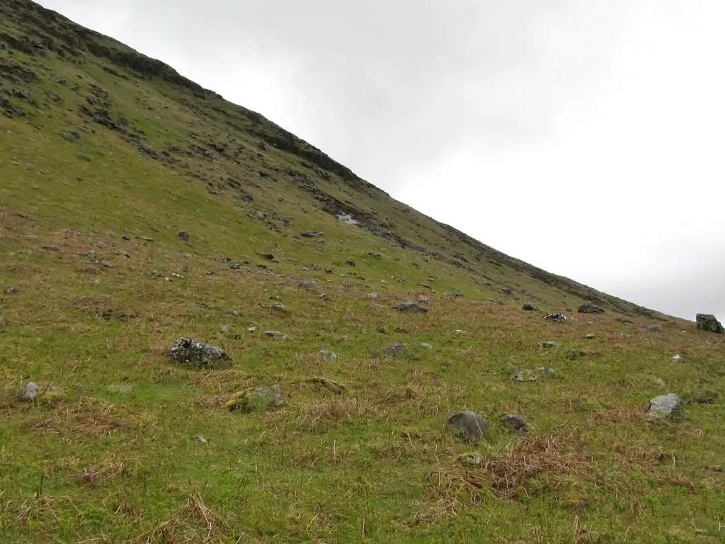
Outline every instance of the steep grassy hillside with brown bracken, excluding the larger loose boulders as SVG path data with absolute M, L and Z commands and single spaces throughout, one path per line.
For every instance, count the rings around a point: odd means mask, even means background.
M 723 540 L 720 335 L 436 223 L 29 1 L 0 4 L 0 87 L 0 541 Z M 178 337 L 231 362 L 175 363 Z M 273 384 L 281 408 L 225 408 Z M 648 423 L 668 392 L 684 419 Z M 460 410 L 477 445 L 444 430 Z

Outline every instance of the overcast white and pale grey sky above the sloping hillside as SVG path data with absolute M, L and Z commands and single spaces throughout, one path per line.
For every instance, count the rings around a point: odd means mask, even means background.
M 725 320 L 722 0 L 41 0 L 498 250 Z

